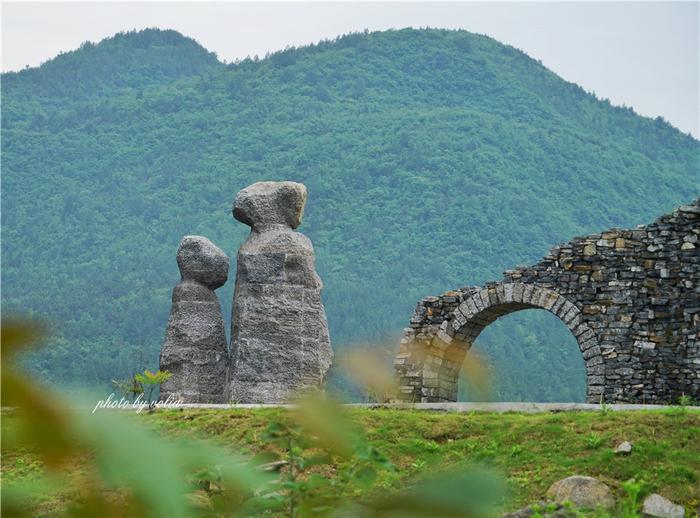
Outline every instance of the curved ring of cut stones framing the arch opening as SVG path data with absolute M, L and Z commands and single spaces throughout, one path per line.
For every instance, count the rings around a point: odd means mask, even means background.
M 559 317 L 566 325 L 576 338 L 586 365 L 586 399 L 589 402 L 597 402 L 600 399 L 604 383 L 604 360 L 595 333 L 584 321 L 581 311 L 554 290 L 514 282 L 498 283 L 476 291 L 459 304 L 450 314 L 450 318 L 440 325 L 431 349 L 444 351 L 437 377 L 438 386 L 442 382 L 442 386 L 452 389 L 449 400 L 457 400 L 459 371 L 479 334 L 499 317 L 525 309 L 545 309 Z M 426 362 L 429 373 L 431 364 L 434 365 L 435 362 Z

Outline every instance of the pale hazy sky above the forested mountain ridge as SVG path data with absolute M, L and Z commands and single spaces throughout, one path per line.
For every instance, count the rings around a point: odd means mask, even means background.
M 568 81 L 700 135 L 700 3 L 2 3 L 2 70 L 145 27 L 175 29 L 228 61 L 364 29 L 463 28 Z

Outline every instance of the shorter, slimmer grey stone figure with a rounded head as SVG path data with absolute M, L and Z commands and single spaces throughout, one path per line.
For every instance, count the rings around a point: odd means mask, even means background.
M 178 395 L 184 403 L 225 403 L 228 345 L 221 306 L 214 290 L 228 278 L 228 256 L 206 237 L 185 236 L 177 251 L 182 281 L 173 303 L 160 369 L 172 373 L 161 399 Z

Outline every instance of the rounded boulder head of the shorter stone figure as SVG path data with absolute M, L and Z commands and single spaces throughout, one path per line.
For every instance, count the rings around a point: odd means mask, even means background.
M 196 281 L 215 290 L 228 279 L 228 256 L 202 236 L 185 236 L 177 249 L 183 281 Z

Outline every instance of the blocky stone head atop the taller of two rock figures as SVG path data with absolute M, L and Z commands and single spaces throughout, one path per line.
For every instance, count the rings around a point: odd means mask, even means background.
M 306 186 L 296 182 L 257 182 L 238 192 L 233 217 L 256 230 L 268 225 L 297 228 L 306 204 Z

